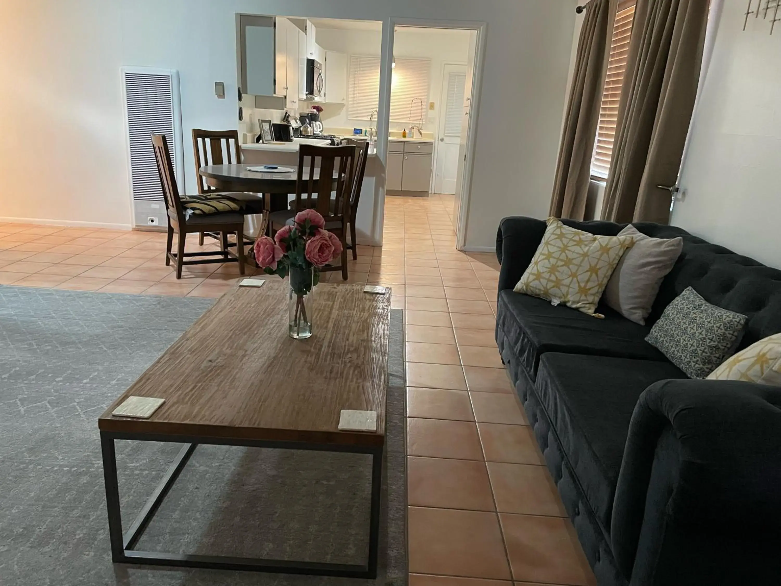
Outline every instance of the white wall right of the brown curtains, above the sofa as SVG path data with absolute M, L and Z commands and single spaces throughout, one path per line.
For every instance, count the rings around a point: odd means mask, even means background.
M 781 268 L 781 29 L 726 0 L 671 223 Z

